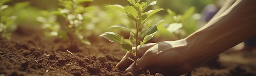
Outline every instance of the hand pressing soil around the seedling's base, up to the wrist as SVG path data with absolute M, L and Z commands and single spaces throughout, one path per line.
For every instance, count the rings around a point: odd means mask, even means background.
M 134 56 L 127 52 L 116 67 L 127 68 L 127 72 L 150 70 L 150 72 L 180 75 L 193 69 L 190 63 L 186 62 L 188 59 L 186 51 L 184 40 L 144 44 L 137 52 L 137 58 L 140 59 L 136 61 L 136 64 L 128 59 L 128 57 L 133 59 Z

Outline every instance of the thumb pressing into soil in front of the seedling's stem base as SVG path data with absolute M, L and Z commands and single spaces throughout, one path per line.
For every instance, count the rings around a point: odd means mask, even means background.
M 136 63 L 132 63 L 125 71 L 126 72 L 139 72 L 148 67 L 149 63 L 144 57 L 141 57 Z

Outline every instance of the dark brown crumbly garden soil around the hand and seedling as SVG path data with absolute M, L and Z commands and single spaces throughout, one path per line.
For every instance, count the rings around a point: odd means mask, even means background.
M 12 39 L 0 40 L 0 76 L 161 76 L 115 68 L 126 51 L 97 35 L 92 45 L 46 38 L 43 29 L 20 25 Z M 154 38 L 150 42 L 162 41 Z M 68 53 L 69 50 L 74 54 Z M 172 76 L 172 75 L 165 75 Z M 233 51 L 214 57 L 182 76 L 256 76 L 256 51 Z

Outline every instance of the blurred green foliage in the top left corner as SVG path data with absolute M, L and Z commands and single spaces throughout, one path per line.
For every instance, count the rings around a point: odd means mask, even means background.
M 38 17 L 42 10 L 38 10 L 29 6 L 29 2 L 17 2 L 16 4 L 9 5 L 8 2 L 12 0 L 0 1 L 0 14 L 1 14 L 1 38 L 10 39 L 11 32 L 16 30 L 18 25 L 22 23 L 33 24 L 38 23 Z

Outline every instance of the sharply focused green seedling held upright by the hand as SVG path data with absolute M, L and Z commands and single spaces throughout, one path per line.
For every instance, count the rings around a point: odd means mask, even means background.
M 136 31 L 133 31 L 132 28 L 126 27 L 126 25 L 117 24 L 111 27 L 119 27 L 119 28 L 124 28 L 126 30 L 129 30 L 130 31 L 129 39 L 122 39 L 119 34 L 116 34 L 114 32 L 105 32 L 100 36 L 106 38 L 110 42 L 120 43 L 123 50 L 129 51 L 133 54 L 134 58 L 132 59 L 128 57 L 128 59 L 136 63 L 136 61 L 139 59 L 137 58 L 138 50 L 143 44 L 145 44 L 148 40 L 153 38 L 153 34 L 157 32 L 156 25 L 163 20 L 154 23 L 154 25 L 145 25 L 145 22 L 151 15 L 157 13 L 158 11 L 163 10 L 163 8 L 158 8 L 155 10 L 144 12 L 148 6 L 156 4 L 157 0 L 146 0 L 146 2 L 140 2 L 141 0 L 127 0 L 127 1 L 130 2 L 132 6 L 127 5 L 123 7 L 119 4 L 114 4 L 114 5 L 109 5 L 107 7 L 116 8 L 126 13 L 128 18 L 132 22 L 134 22 Z M 143 40 L 141 38 L 143 38 Z M 132 47 L 134 46 L 133 44 L 135 44 L 135 51 L 132 50 Z

